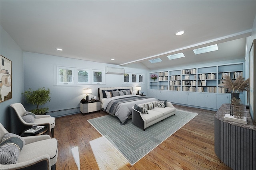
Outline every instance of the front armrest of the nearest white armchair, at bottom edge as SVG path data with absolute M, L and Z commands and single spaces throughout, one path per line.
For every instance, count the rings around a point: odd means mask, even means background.
M 16 164 L 10 164 L 10 165 L 0 165 L 1 170 L 50 170 L 50 156 L 45 154 L 42 156 L 39 156 L 37 158 L 34 158 L 32 160 L 28 160 L 26 162 L 19 162 Z

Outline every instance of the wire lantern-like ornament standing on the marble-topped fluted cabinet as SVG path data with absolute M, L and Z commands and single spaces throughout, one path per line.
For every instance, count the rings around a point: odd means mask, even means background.
M 241 103 L 241 99 L 233 97 L 230 104 L 230 115 L 237 119 L 243 119 L 244 106 Z

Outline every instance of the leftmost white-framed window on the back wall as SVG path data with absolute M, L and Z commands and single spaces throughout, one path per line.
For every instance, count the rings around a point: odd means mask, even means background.
M 57 84 L 74 84 L 74 68 L 57 66 Z

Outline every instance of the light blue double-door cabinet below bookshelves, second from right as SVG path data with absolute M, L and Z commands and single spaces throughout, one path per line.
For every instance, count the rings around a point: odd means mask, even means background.
M 206 107 L 211 109 L 216 109 L 217 105 L 217 95 L 216 94 L 204 94 L 197 93 L 196 94 L 196 106 Z

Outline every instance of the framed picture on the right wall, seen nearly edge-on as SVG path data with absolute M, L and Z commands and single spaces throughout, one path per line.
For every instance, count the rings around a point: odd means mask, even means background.
M 250 115 L 253 119 L 253 124 L 256 125 L 256 102 L 254 101 L 254 98 L 256 97 L 256 74 L 254 72 L 256 71 L 256 39 L 252 42 L 252 47 L 250 49 Z

